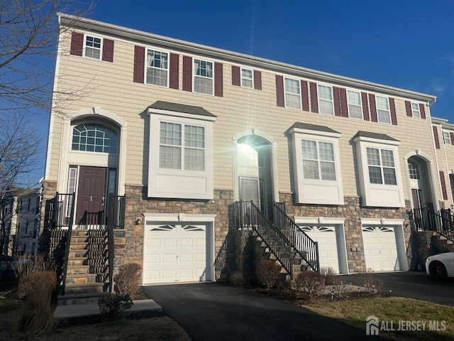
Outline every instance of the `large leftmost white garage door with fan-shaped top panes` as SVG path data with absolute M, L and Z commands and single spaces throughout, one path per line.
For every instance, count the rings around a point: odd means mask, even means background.
M 206 281 L 206 224 L 146 224 L 143 283 Z

